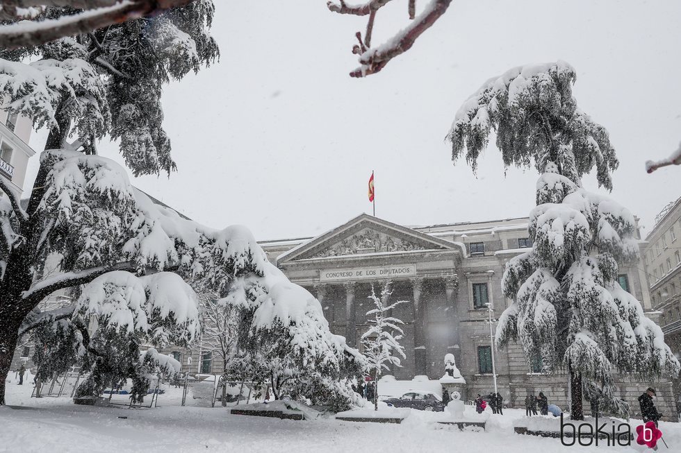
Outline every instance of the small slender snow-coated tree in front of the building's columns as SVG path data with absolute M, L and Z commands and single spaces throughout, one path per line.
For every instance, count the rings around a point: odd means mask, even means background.
M 389 370 L 389 365 L 402 366 L 400 357 L 406 359 L 404 346 L 400 345 L 400 340 L 404 336 L 402 327 L 404 324 L 393 316 L 391 310 L 397 305 L 408 302 L 407 300 L 397 300 L 391 303 L 391 282 L 386 282 L 381 289 L 381 295 L 376 296 L 373 284 L 371 285 L 371 295 L 369 298 L 376 308 L 366 312 L 369 328 L 362 334 L 362 345 L 364 355 L 368 361 L 368 371 L 374 378 L 374 410 L 378 410 L 378 380 L 383 370 Z

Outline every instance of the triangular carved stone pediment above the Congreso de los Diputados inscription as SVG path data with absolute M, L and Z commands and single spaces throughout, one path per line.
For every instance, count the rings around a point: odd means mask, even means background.
M 277 262 L 343 257 L 368 253 L 452 250 L 457 245 L 368 214 L 361 214 L 333 230 L 281 255 Z

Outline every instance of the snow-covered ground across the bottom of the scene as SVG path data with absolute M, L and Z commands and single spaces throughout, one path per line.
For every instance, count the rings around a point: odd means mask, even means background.
M 8 385 L 0 407 L 1 452 L 498 452 L 597 451 L 564 447 L 552 438 L 514 434 L 524 411 L 491 416 L 486 432 L 436 425 L 443 413 L 411 411 L 402 425 L 344 422 L 332 418 L 296 422 L 232 416 L 222 407 L 76 406 L 69 398 L 31 399 L 31 386 Z M 386 408 L 381 408 L 386 410 Z M 127 418 L 119 418 L 127 417 Z M 633 420 L 632 420 L 633 422 Z M 633 423 L 632 423 L 633 424 Z M 670 447 L 681 447 L 681 424 L 662 422 Z M 659 445 L 666 451 L 664 445 Z M 598 447 L 598 451 L 643 452 L 643 447 Z

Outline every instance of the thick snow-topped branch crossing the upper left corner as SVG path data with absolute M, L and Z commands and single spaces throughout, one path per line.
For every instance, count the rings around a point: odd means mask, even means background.
M 3 6 L 0 12 L 13 19 L 25 19 L 26 16 L 31 16 L 29 12 L 47 6 L 71 6 L 83 8 L 83 12 L 58 19 L 22 20 L 15 24 L 0 26 L 0 49 L 40 46 L 61 37 L 89 33 L 97 28 L 156 15 L 192 1 L 198 0 L 7 1 L 5 3 L 9 5 Z M 33 9 L 26 11 L 26 8 Z

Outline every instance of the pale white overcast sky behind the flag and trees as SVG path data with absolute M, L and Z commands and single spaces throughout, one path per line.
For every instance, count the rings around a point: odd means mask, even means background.
M 389 221 L 527 216 L 535 171 L 504 176 L 492 144 L 476 178 L 466 162 L 452 165 L 444 138 L 486 79 L 561 59 L 577 69 L 582 110 L 609 130 L 621 161 L 611 196 L 641 217 L 643 235 L 681 195 L 680 167 L 643 167 L 681 139 L 680 1 L 454 0 L 411 51 L 359 80 L 347 73 L 366 19 L 325 3 L 215 0 L 220 63 L 163 95 L 178 171 L 133 184 L 211 227 L 247 225 L 257 239 L 315 235 L 370 213 L 372 170 L 376 214 Z M 407 24 L 406 3 L 381 9 L 375 45 Z M 44 139 L 31 144 L 40 151 Z M 100 151 L 121 161 L 116 144 Z

